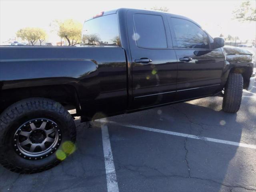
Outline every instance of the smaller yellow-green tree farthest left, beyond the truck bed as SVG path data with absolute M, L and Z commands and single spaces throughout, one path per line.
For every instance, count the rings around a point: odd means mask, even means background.
M 29 44 L 34 46 L 37 40 L 41 38 L 39 33 L 40 30 L 42 29 L 26 27 L 18 30 L 16 36 L 22 38 L 22 40 L 27 40 Z

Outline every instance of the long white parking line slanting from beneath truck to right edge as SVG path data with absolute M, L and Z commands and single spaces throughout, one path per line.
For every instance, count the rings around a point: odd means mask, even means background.
M 214 139 L 214 138 L 209 138 L 209 137 L 201 137 L 201 136 L 196 136 L 196 135 L 190 135 L 190 134 L 161 130 L 161 129 L 154 129 L 154 128 L 137 126 L 137 125 L 120 124 L 120 123 L 111 122 L 111 121 L 110 121 L 110 123 L 115 123 L 120 126 L 126 126 L 126 127 L 146 130 L 146 131 L 152 131 L 152 132 L 164 133 L 164 134 L 175 135 L 175 136 L 180 136 L 180 137 L 187 137 L 187 138 L 191 138 L 191 139 L 204 140 L 204 141 L 210 141 L 210 142 L 216 142 L 216 143 L 222 143 L 222 144 L 256 149 L 256 145 L 251 145 L 251 144 L 245 144 L 245 143 L 239 143 L 239 142 L 227 141 L 227 140 L 221 140 L 221 139 Z

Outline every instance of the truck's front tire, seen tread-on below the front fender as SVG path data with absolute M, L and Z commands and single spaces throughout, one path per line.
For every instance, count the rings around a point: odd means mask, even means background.
M 228 76 L 224 88 L 224 97 L 222 110 L 228 113 L 236 113 L 240 108 L 243 94 L 243 76 L 242 74 L 231 73 Z

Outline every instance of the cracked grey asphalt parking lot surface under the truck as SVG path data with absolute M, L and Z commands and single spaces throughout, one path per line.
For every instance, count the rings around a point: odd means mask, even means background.
M 0 192 L 256 191 L 256 83 L 237 114 L 222 98 L 75 120 L 76 152 L 51 170 L 16 174 L 0 166 Z

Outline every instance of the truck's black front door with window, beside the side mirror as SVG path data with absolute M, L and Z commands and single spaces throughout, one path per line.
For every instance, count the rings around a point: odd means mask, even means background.
M 210 49 L 212 38 L 197 24 L 168 16 L 178 59 L 177 100 L 217 93 L 225 65 L 222 48 Z

